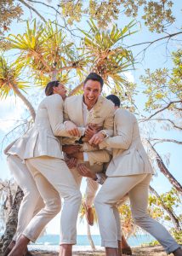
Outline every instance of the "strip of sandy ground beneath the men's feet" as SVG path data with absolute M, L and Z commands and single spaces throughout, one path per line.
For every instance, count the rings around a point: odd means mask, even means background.
M 58 253 L 48 253 L 48 252 L 31 252 L 34 256 L 58 256 Z M 104 256 L 105 253 L 104 251 L 96 251 L 96 252 L 91 252 L 91 251 L 86 251 L 86 252 L 74 252 L 73 256 L 89 256 L 89 255 L 94 255 L 94 256 Z M 155 247 L 134 247 L 133 248 L 133 255 L 134 256 L 166 256 L 167 254 L 164 253 L 163 249 L 161 246 L 155 246 Z M 173 255 L 173 254 L 171 254 Z M 123 254 L 124 256 L 124 254 Z

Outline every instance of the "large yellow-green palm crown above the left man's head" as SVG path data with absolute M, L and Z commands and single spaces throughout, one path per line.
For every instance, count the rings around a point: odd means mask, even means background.
M 81 75 L 82 67 L 86 65 L 85 59 L 77 54 L 77 48 L 72 42 L 67 42 L 64 32 L 47 22 L 37 27 L 34 20 L 33 27 L 26 22 L 26 32 L 23 35 L 10 34 L 8 37 L 11 49 L 19 49 L 18 60 L 24 67 L 31 69 L 34 79 L 41 80 L 45 76 L 56 79 L 58 73 L 77 70 Z

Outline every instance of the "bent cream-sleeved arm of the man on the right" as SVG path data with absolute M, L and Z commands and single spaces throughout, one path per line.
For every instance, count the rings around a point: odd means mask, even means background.
M 108 137 L 100 143 L 100 149 L 103 148 L 122 148 L 128 149 L 132 142 L 134 128 L 134 116 L 128 111 L 119 110 L 115 115 L 115 125 L 117 136 Z

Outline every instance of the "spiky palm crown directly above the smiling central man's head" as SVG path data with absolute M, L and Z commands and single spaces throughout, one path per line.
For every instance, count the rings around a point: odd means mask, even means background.
M 135 22 L 132 21 L 123 29 L 113 25 L 111 31 L 102 31 L 94 24 L 93 20 L 88 21 L 89 32 L 81 30 L 82 55 L 87 56 L 89 72 L 99 73 L 105 84 L 110 86 L 111 79 L 115 86 L 124 91 L 124 84 L 127 80 L 124 72 L 134 69 L 134 56 L 131 50 L 126 49 L 122 42 L 124 38 L 134 34 L 131 32 Z M 77 85 L 74 93 L 82 88 L 82 84 Z

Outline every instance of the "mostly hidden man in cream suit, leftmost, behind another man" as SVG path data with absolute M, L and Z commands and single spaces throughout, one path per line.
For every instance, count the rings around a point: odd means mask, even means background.
M 20 203 L 16 232 L 3 256 L 7 256 L 10 253 L 15 242 L 31 221 L 31 218 L 44 207 L 43 199 L 40 196 L 37 185 L 23 161 L 26 142 L 30 132 L 31 131 L 27 131 L 23 137 L 10 143 L 9 146 L 4 149 L 4 154 L 8 155 L 7 163 L 9 170 L 14 177 L 14 181 L 20 186 L 20 189 L 23 190 L 24 197 Z M 28 253 L 26 254 L 29 255 Z

